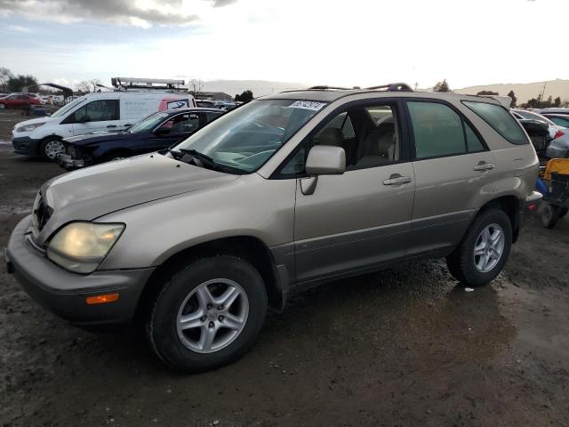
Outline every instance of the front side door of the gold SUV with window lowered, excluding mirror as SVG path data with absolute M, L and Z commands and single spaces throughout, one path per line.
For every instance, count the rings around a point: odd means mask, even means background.
M 364 271 L 405 256 L 413 210 L 413 165 L 404 155 L 397 102 L 358 104 L 331 117 L 293 158 L 314 145 L 346 151 L 347 170 L 323 175 L 313 194 L 297 183 L 294 251 L 297 283 Z M 305 157 L 305 156 L 304 156 Z

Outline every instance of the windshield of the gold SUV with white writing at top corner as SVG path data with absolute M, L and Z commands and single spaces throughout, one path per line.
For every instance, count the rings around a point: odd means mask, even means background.
M 253 172 L 325 105 L 319 101 L 251 101 L 206 125 L 174 150 L 193 149 L 220 165 Z

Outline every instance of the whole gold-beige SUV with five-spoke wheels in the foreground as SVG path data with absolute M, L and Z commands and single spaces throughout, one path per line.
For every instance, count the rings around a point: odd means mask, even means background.
M 465 286 L 506 263 L 538 159 L 498 101 L 396 84 L 251 101 L 172 149 L 44 184 L 6 258 L 84 327 L 140 319 L 186 372 L 251 347 L 309 286 L 445 257 Z

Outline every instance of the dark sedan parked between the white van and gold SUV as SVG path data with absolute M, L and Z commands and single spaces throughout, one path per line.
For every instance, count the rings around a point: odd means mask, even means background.
M 223 109 L 169 109 L 154 113 L 124 131 L 72 136 L 63 140 L 67 155 L 58 156 L 56 161 L 72 170 L 167 149 L 225 112 Z

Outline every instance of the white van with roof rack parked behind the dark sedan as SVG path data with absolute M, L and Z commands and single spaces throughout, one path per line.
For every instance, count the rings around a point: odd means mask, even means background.
M 63 138 L 82 133 L 125 129 L 156 111 L 196 107 L 188 93 L 101 92 L 77 98 L 50 117 L 38 117 L 15 125 L 14 152 L 55 158 L 65 152 Z

